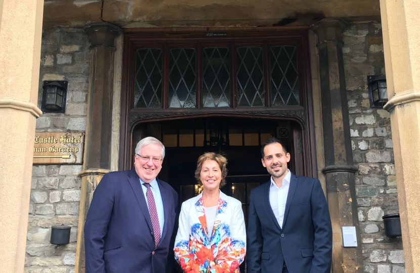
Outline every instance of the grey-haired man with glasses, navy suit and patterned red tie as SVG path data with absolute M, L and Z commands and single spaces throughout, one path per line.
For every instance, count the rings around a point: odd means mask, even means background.
M 175 264 L 178 194 L 156 178 L 165 148 L 136 147 L 134 170 L 104 175 L 85 222 L 86 273 L 163 273 Z

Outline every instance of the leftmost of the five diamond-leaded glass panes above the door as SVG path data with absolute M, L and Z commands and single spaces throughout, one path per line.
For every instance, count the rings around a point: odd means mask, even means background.
M 134 107 L 162 107 L 162 50 L 138 49 L 136 51 L 136 83 Z

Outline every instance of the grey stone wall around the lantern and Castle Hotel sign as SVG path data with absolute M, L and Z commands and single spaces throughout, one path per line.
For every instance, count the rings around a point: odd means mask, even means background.
M 88 36 L 82 29 L 43 32 L 38 107 L 44 80 L 68 80 L 66 112 L 43 114 L 36 131 L 85 131 L 90 69 Z M 29 207 L 25 272 L 74 272 L 81 165 L 34 165 Z M 51 226 L 72 226 L 70 244 L 50 244 Z

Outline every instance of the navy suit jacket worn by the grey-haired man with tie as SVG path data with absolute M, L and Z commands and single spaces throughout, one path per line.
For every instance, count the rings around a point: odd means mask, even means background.
M 85 222 L 86 273 L 163 273 L 175 264 L 178 194 L 157 179 L 164 225 L 155 248 L 152 222 L 135 170 L 110 172 L 95 189 Z

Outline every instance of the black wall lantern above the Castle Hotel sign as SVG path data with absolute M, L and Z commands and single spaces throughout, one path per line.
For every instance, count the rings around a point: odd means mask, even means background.
M 44 113 L 64 113 L 66 111 L 66 80 L 45 80 L 41 110 Z

